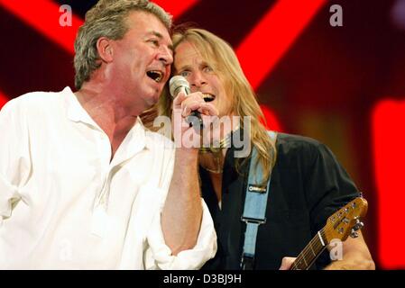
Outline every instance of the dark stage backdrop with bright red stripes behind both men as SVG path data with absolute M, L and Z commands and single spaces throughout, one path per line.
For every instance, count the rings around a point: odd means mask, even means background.
M 405 268 L 395 241 L 405 202 L 405 30 L 391 17 L 400 1 L 335 1 L 342 27 L 330 25 L 326 0 L 155 1 L 235 48 L 272 129 L 332 148 L 369 202 L 364 235 L 385 269 Z M 95 2 L 0 0 L 0 106 L 73 87 L 73 40 Z M 73 8 L 71 27 L 60 26 L 61 4 Z

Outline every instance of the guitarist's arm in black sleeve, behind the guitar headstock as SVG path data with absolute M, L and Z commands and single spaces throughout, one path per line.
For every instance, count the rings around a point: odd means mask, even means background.
M 305 161 L 311 163 L 308 169 L 308 182 L 306 191 L 311 208 L 311 226 L 312 231 L 321 229 L 327 218 L 345 203 L 358 196 L 358 190 L 353 181 L 345 172 L 345 169 L 338 163 L 336 157 L 325 145 L 311 145 L 309 151 L 312 151 L 314 160 Z M 308 153 L 310 154 L 310 153 Z M 358 238 L 347 238 L 341 242 L 340 247 L 327 247 L 332 254 L 337 251 L 341 260 L 332 261 L 332 263 L 321 263 L 325 269 L 373 269 L 374 263 L 370 251 L 364 242 L 362 234 L 359 232 Z M 295 258 L 284 257 L 282 259 L 281 269 L 290 269 Z

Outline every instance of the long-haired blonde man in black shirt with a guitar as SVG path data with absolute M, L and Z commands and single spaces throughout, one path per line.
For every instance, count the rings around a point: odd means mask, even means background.
M 247 267 L 241 266 L 246 233 L 246 223 L 241 217 L 252 154 L 237 157 L 241 148 L 233 141 L 235 134 L 243 134 L 244 142 L 257 151 L 263 182 L 270 180 L 265 221 L 259 225 L 249 267 L 289 269 L 293 257 L 325 226 L 327 218 L 359 196 L 357 188 L 325 145 L 283 133 L 273 139 L 269 137 L 260 122 L 262 112 L 253 89 L 235 52 L 224 40 L 208 31 L 191 28 L 174 33 L 172 40 L 172 72 L 189 81 L 191 92 L 201 92 L 206 101 L 216 106 L 220 117 L 250 116 L 249 125 L 245 120 L 232 120 L 227 127 L 219 126 L 219 147 L 200 149 L 202 193 L 218 237 L 216 257 L 203 268 Z M 185 110 L 192 103 L 187 105 L 183 107 Z M 161 113 L 169 114 L 168 107 L 170 97 L 161 97 Z M 331 261 L 324 252 L 312 268 L 374 268 L 361 233 L 359 238 L 347 238 L 341 247 L 342 260 Z

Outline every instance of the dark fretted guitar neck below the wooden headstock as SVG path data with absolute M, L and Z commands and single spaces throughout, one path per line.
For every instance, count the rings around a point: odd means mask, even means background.
M 290 270 L 308 270 L 327 247 L 327 244 L 325 230 L 320 229 L 317 235 L 315 235 L 302 252 L 299 253 L 299 256 L 295 259 Z

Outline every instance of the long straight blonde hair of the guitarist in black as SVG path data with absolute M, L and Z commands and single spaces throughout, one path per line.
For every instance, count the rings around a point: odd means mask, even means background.
M 272 166 L 276 160 L 276 149 L 271 141 L 267 130 L 262 125 L 265 121 L 257 103 L 256 95 L 252 86 L 244 76 L 244 71 L 239 64 L 234 49 L 225 40 L 217 37 L 213 33 L 197 28 L 189 28 L 182 31 L 175 31 L 172 35 L 173 47 L 179 43 L 188 41 L 193 44 L 202 57 L 214 68 L 217 76 L 223 80 L 226 93 L 234 96 L 234 112 L 241 117 L 241 128 L 244 129 L 244 116 L 251 117 L 251 144 L 257 149 L 258 160 L 262 164 L 264 182 L 268 181 L 272 171 Z M 176 57 L 176 55 L 174 56 Z M 172 69 L 173 72 L 175 72 Z M 158 113 L 170 116 L 171 97 L 164 89 L 158 103 Z M 252 147 L 253 147 L 252 146 Z M 247 160 L 248 158 L 244 158 Z M 236 162 L 236 170 L 240 171 L 241 162 Z

